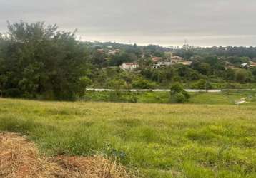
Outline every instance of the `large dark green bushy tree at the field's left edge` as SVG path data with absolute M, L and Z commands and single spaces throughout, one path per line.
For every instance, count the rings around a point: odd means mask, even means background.
M 27 98 L 72 100 L 87 68 L 87 54 L 74 33 L 44 23 L 8 23 L 0 38 L 1 91 Z M 17 94 L 16 94 L 17 95 Z

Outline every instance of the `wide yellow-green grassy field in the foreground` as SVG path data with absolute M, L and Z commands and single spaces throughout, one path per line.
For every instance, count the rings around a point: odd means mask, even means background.
M 142 177 L 256 177 L 255 102 L 205 95 L 183 105 L 0 99 L 0 130 L 46 155 L 116 157 Z

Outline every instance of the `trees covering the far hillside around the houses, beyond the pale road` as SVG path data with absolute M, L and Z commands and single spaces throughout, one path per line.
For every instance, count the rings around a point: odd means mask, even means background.
M 242 56 L 241 53 L 241 57 L 222 56 L 213 50 L 211 53 L 208 52 L 209 48 L 193 46 L 167 49 L 154 45 L 122 46 L 119 44 L 122 51 L 105 58 L 106 53 L 101 53 L 97 49 L 106 49 L 107 51 L 109 45 L 115 46 L 117 43 L 97 43 L 97 46 L 90 48 L 92 63 L 99 68 L 92 73 L 93 87 L 95 88 L 115 88 L 117 85 L 113 83 L 119 83 L 119 88 L 169 88 L 175 82 L 182 83 L 185 88 L 252 88 L 256 82 L 256 68 L 241 66 L 242 63 L 250 64 L 255 60 L 255 58 L 248 57 L 248 54 Z M 212 49 L 214 48 L 212 47 Z M 222 49 L 222 47 L 216 48 Z M 235 47 L 227 48 L 236 49 Z M 192 64 L 190 66 L 176 64 L 152 68 L 154 65 L 152 56 L 161 57 L 161 61 L 168 61 L 171 53 L 191 61 Z M 139 68 L 133 71 L 123 71 L 119 65 L 125 62 L 136 62 L 139 64 Z M 100 80 L 100 78 L 104 78 L 104 80 Z

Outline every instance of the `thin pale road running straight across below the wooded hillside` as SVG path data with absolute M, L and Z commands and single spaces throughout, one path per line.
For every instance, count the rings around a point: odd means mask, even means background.
M 222 91 L 255 91 L 255 89 L 222 89 L 222 90 L 197 90 L 197 89 L 185 89 L 187 92 L 197 93 L 197 92 L 209 92 L 209 93 L 220 93 Z M 114 91 L 113 89 L 104 89 L 104 88 L 87 88 L 87 91 Z M 129 92 L 169 92 L 169 89 L 130 89 L 130 90 L 120 90 L 120 91 L 129 91 Z

